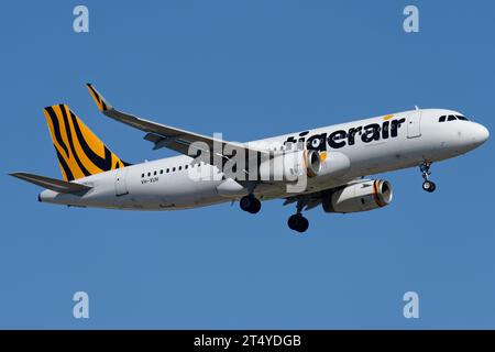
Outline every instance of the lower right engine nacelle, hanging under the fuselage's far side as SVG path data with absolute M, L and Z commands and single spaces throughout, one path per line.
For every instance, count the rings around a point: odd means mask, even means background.
M 387 206 L 392 201 L 392 185 L 387 180 L 369 179 L 344 186 L 323 196 L 326 212 L 358 212 Z

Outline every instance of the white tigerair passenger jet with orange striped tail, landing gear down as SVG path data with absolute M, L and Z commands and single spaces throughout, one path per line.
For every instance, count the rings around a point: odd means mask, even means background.
M 284 199 L 284 206 L 296 206 L 287 224 L 300 233 L 309 227 L 302 211 L 318 206 L 328 213 L 351 213 L 389 205 L 391 183 L 365 178 L 367 175 L 419 167 L 422 189 L 435 191 L 437 186 L 430 179 L 432 163 L 465 154 L 490 136 L 485 127 L 460 112 L 416 107 L 410 111 L 238 143 L 121 112 L 91 84 L 87 88 L 106 117 L 145 132 L 144 139 L 153 143 L 154 150 L 166 147 L 182 155 L 127 163 L 67 105 L 46 107 L 44 116 L 63 179 L 30 173 L 10 174 L 46 188 L 38 195 L 41 202 L 177 210 L 239 201 L 242 210 L 254 215 L 260 211 L 261 201 Z M 232 167 L 226 169 L 229 164 Z M 299 184 L 302 187 L 297 187 Z

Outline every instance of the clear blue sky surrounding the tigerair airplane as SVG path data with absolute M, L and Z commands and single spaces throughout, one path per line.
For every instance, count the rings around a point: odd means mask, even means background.
M 352 119 L 451 108 L 495 131 L 492 1 L 74 1 L 1 7 L 0 328 L 495 328 L 493 141 L 380 175 L 394 201 L 352 216 L 263 204 L 175 212 L 68 209 L 7 176 L 61 177 L 42 108 L 68 103 L 122 158 L 152 151 L 116 106 L 249 141 Z M 420 32 L 403 31 L 416 4 Z M 73 318 L 73 294 L 90 318 Z M 405 319 L 403 295 L 419 294 Z

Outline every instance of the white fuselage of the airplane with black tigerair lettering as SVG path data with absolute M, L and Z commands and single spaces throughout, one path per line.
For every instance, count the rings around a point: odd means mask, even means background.
M 294 145 L 301 142 L 300 145 L 305 148 L 312 145 L 345 155 L 350 165 L 344 174 L 308 179 L 304 193 L 315 193 L 344 185 L 356 177 L 418 166 L 424 161 L 438 162 L 461 155 L 481 145 L 488 138 L 487 130 L 475 122 L 439 122 L 441 116 L 449 114 L 459 116 L 450 110 L 413 110 L 249 144 L 260 147 L 268 145 L 270 150 L 277 151 L 286 147 L 287 142 Z M 365 133 L 370 127 L 372 131 Z M 318 136 L 321 136 L 323 142 L 315 142 Z M 174 210 L 231 201 L 248 194 L 246 189 L 223 191 L 222 184 L 228 180 L 221 177 L 205 180 L 191 176 L 191 157 L 180 155 L 131 165 L 77 179 L 77 183 L 92 187 L 84 196 L 44 190 L 40 200 L 80 207 Z M 217 167 L 210 164 L 199 167 L 205 168 L 202 172 L 207 174 L 218 173 Z M 261 200 L 294 196 L 287 193 L 285 186 L 284 183 L 261 183 L 255 187 L 254 195 Z

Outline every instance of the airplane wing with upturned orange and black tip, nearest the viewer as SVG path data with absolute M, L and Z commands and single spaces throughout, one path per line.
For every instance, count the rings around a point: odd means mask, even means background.
M 248 153 L 266 153 L 265 151 L 258 151 L 248 148 L 241 143 L 227 142 L 223 140 L 217 140 L 207 135 L 180 130 L 177 128 L 168 127 L 165 124 L 156 123 L 150 120 L 145 120 L 133 114 L 129 114 L 114 109 L 91 84 L 87 84 L 89 92 L 91 94 L 98 110 L 105 116 L 125 123 L 130 127 L 146 132 L 145 140 L 154 143 L 153 150 L 161 147 L 167 147 L 173 151 L 179 152 L 191 157 L 196 156 L 197 151 L 208 151 L 211 154 L 220 155 L 224 158 L 229 158 L 231 155 L 224 155 L 223 151 L 244 151 L 244 155 Z M 200 143 L 195 143 L 200 142 Z M 227 154 L 227 153 L 226 153 Z

